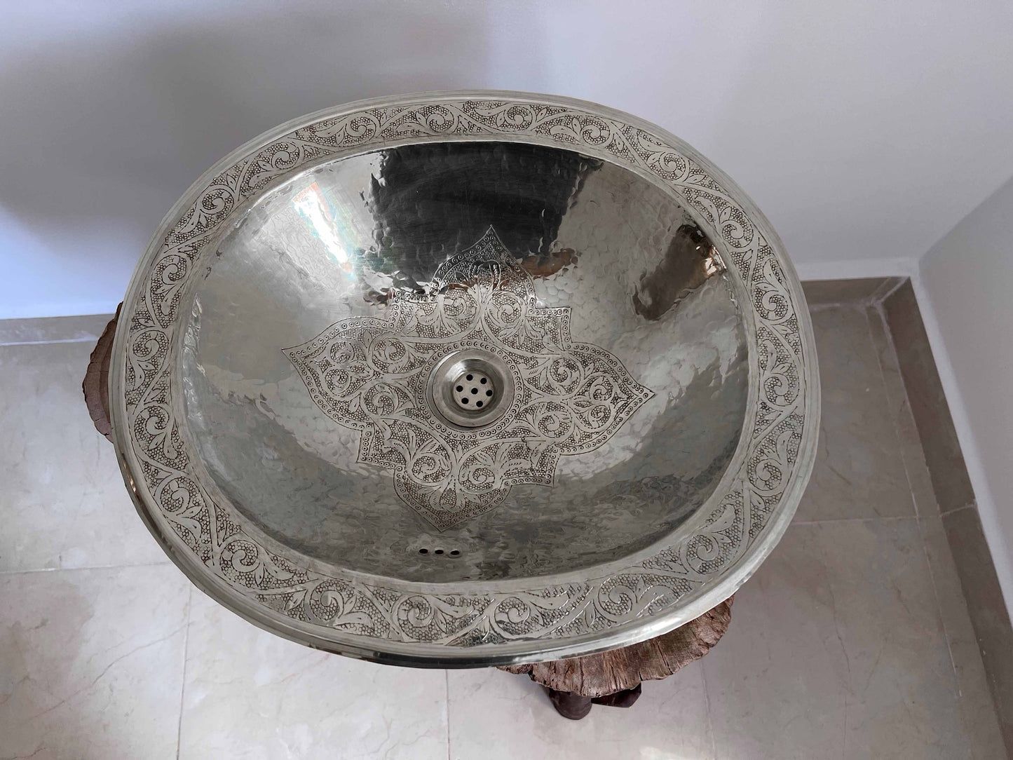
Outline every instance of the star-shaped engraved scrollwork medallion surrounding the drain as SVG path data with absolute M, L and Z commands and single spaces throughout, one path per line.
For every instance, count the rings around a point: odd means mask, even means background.
M 359 460 L 393 470 L 398 497 L 440 530 L 485 514 L 512 485 L 552 485 L 560 456 L 597 449 L 654 395 L 609 352 L 570 339 L 568 307 L 535 305 L 491 227 L 434 286 L 397 294 L 388 319 L 344 319 L 285 355 L 320 409 L 362 432 Z M 467 432 L 425 399 L 434 366 L 465 349 L 499 357 L 517 388 L 501 419 Z

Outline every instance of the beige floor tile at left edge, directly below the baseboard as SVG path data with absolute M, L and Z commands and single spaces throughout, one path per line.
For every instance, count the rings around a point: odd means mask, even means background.
M 0 571 L 166 561 L 85 408 L 91 348 L 0 347 Z

